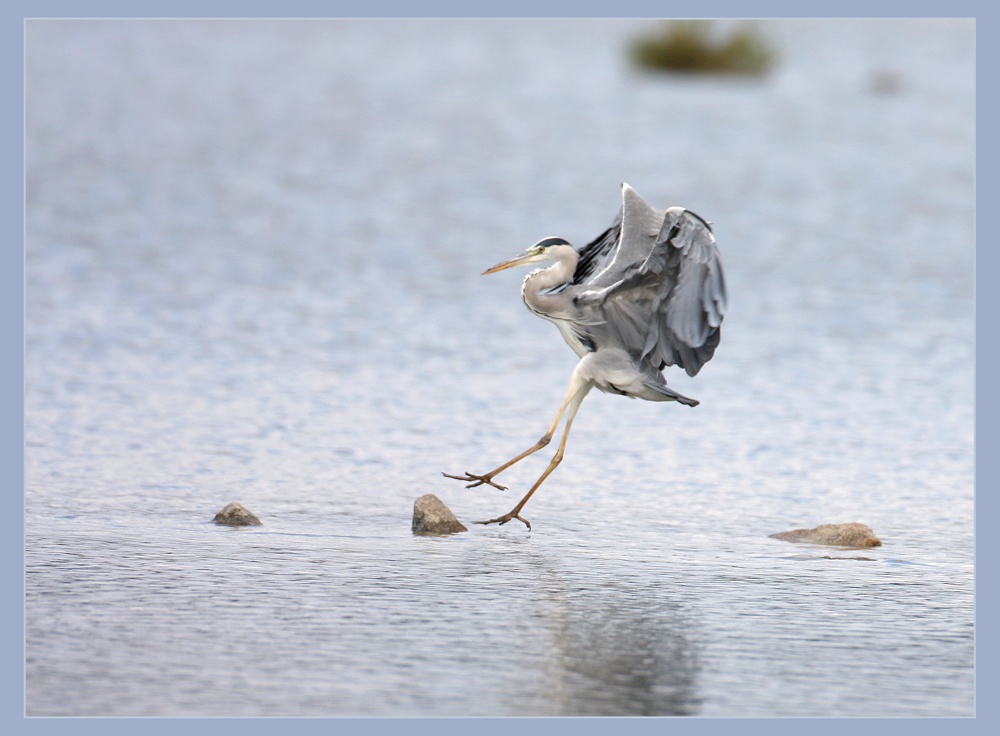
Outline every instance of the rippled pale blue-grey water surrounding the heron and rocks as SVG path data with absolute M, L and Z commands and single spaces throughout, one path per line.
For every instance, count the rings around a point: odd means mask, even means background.
M 28 23 L 29 715 L 974 713 L 974 25 L 768 23 L 763 81 L 648 27 Z M 544 468 L 440 474 L 575 360 L 478 274 L 621 181 L 715 223 L 702 404 L 595 393 L 533 531 L 413 536 Z

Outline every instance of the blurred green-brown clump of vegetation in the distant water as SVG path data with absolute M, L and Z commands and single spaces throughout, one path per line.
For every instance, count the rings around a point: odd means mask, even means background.
M 751 23 L 714 32 L 709 20 L 675 20 L 632 42 L 632 61 L 643 69 L 705 74 L 765 74 L 774 52 Z

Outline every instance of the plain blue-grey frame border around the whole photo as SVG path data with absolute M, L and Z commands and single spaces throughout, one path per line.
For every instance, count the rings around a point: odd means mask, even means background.
M 336 18 L 336 17 L 609 17 L 609 18 L 661 18 L 661 17 L 966 17 L 976 19 L 977 54 L 977 176 L 976 197 L 987 205 L 997 201 L 995 162 L 995 134 L 998 130 L 995 85 L 990 84 L 992 73 L 980 75 L 979 70 L 996 68 L 993 46 L 996 32 L 995 8 L 987 2 L 956 0 L 950 3 L 914 1 L 908 3 L 884 0 L 841 0 L 840 2 L 794 3 L 790 0 L 762 0 L 737 2 L 736 0 L 705 0 L 701 3 L 651 0 L 618 0 L 618 2 L 557 2 L 552 0 L 507 0 L 507 2 L 455 2 L 431 0 L 407 3 L 404 0 L 381 2 L 321 2 L 320 0 L 148 0 L 124 2 L 122 0 L 53 0 L 28 2 L 11 0 L 0 10 L 0 54 L 5 61 L 0 64 L 0 76 L 8 102 L 0 108 L 2 117 L 3 151 L 7 163 L 0 168 L 3 197 L 0 197 L 7 216 L 2 220 L 11 231 L 6 245 L 0 248 L 0 332 L 4 340 L 2 352 L 3 411 L 0 412 L 0 452 L 3 468 L 4 503 L 9 504 L 0 533 L 3 548 L 2 560 L 4 587 L 10 586 L 3 596 L 0 661 L 2 683 L 0 687 L 0 719 L 7 726 L 4 733 L 163 733 L 181 731 L 208 733 L 218 728 L 239 728 L 242 732 L 274 733 L 330 733 L 346 729 L 349 733 L 405 732 L 499 734 L 510 729 L 528 729 L 543 732 L 550 729 L 572 729 L 574 733 L 603 733 L 609 727 L 630 733 L 665 733 L 678 729 L 684 733 L 735 733 L 801 732 L 833 734 L 843 729 L 866 732 L 876 728 L 905 728 L 909 733 L 939 734 L 945 729 L 956 732 L 994 732 L 997 707 L 995 693 L 1000 692 L 996 675 L 996 633 L 992 622 L 996 620 L 996 590 L 992 562 L 996 559 L 996 541 L 992 535 L 976 537 L 976 619 L 984 626 L 976 627 L 976 717 L 968 719 L 660 719 L 660 718 L 280 718 L 280 719 L 199 719 L 199 718 L 150 718 L 150 719 L 101 719 L 101 718 L 26 718 L 24 716 L 24 27 L 32 18 Z M 984 131 L 983 135 L 978 135 Z M 977 207 L 977 214 L 979 212 Z M 987 212 L 989 210 L 986 210 Z M 993 315 L 997 314 L 998 290 L 989 284 L 997 272 L 998 256 L 994 239 L 989 235 L 996 225 L 989 218 L 976 219 L 977 243 L 986 244 L 976 250 L 976 446 L 987 448 L 986 453 L 976 453 L 976 519 L 996 518 L 998 505 L 997 399 L 990 367 L 995 352 L 989 339 L 993 334 Z M 17 232 L 14 232 L 16 230 Z M 20 247 L 18 247 L 20 246 Z M 985 336 L 984 341 L 978 340 Z M 980 371 L 980 368 L 985 370 Z M 985 380 L 978 380 L 983 377 Z M 978 491 L 984 491 L 979 493 Z M 991 697 L 990 693 L 994 696 Z M 983 697 L 985 696 L 985 697 Z M 510 721 L 510 722 L 508 722 Z M 553 721 L 562 721 L 556 723 Z M 994 723 L 993 727 L 989 723 Z

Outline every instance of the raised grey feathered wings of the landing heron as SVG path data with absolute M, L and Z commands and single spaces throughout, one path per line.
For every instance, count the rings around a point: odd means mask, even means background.
M 726 284 L 711 227 L 682 207 L 654 209 L 628 184 L 615 222 L 581 249 L 569 290 L 598 348 L 693 376 L 719 344 Z

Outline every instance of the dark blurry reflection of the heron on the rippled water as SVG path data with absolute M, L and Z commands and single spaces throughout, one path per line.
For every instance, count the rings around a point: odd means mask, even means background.
M 683 608 L 648 583 L 587 582 L 551 573 L 541 586 L 536 615 L 551 635 L 543 682 L 553 715 L 696 715 L 698 651 Z

